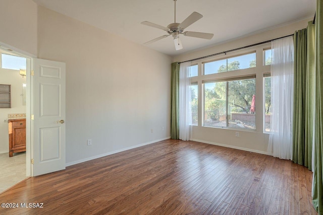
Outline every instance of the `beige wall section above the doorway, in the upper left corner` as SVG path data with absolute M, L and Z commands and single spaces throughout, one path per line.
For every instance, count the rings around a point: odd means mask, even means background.
M 37 5 L 31 0 L 1 0 L 0 42 L 37 56 Z

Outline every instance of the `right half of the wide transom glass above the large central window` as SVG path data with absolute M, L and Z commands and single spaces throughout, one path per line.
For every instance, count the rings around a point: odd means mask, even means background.
M 256 53 L 228 58 L 228 71 L 256 66 Z

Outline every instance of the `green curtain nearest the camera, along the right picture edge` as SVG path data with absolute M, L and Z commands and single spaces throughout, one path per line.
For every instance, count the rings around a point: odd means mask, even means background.
M 313 205 L 318 214 L 323 214 L 323 1 L 316 1 L 315 40 L 315 157 L 313 174 Z

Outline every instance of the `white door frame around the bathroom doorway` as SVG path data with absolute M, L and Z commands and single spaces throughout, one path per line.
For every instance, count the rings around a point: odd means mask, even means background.
M 31 120 L 31 114 L 33 113 L 33 79 L 31 70 L 33 69 L 33 58 L 36 58 L 37 56 L 1 41 L 0 46 L 4 51 L 12 52 L 13 54 L 26 58 L 26 177 L 32 177 L 34 175 L 33 165 L 31 164 L 34 137 L 33 120 Z

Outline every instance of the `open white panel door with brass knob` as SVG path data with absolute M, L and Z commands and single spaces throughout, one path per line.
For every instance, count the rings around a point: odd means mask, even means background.
M 34 59 L 33 176 L 65 169 L 65 63 Z

